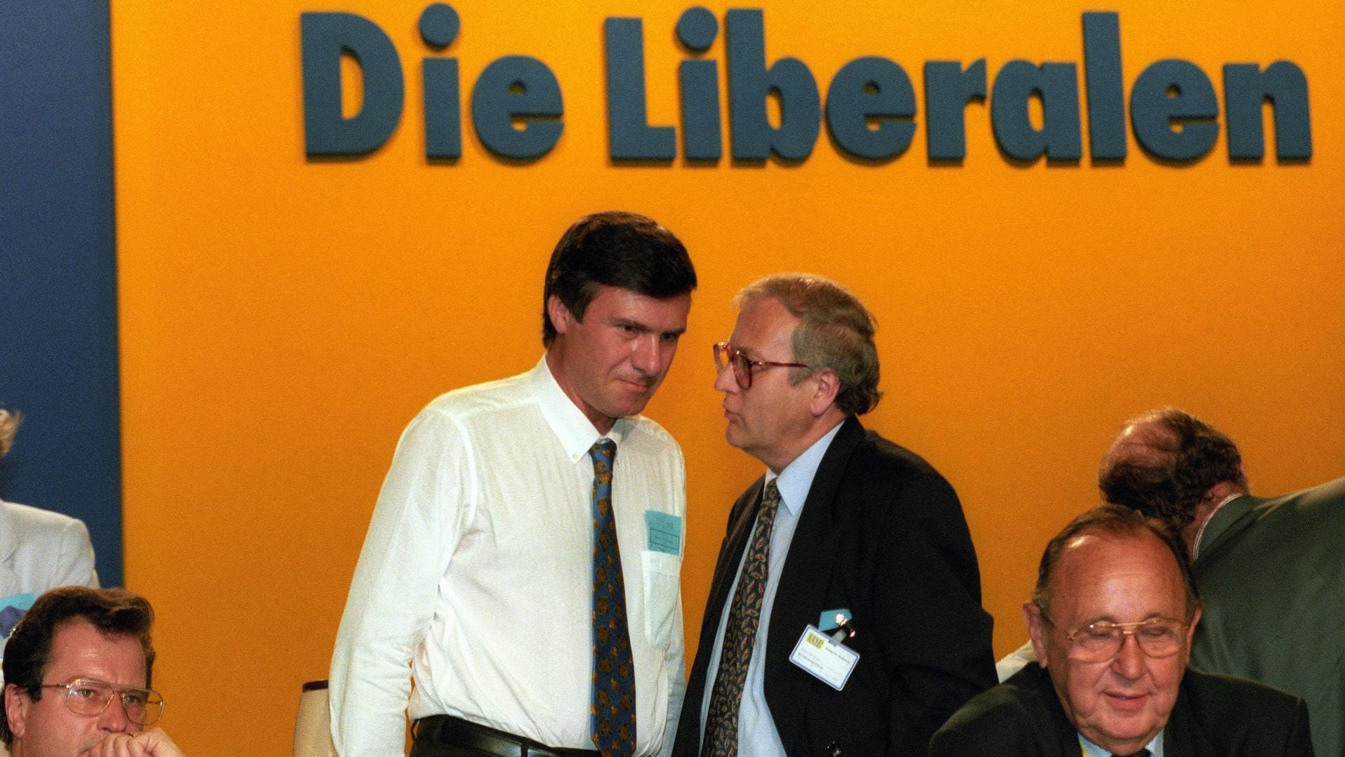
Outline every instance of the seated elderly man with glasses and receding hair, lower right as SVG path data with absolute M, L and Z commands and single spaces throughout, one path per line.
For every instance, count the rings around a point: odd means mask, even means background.
M 967 703 L 931 757 L 1303 757 L 1307 706 L 1188 668 L 1200 598 L 1181 541 L 1119 506 L 1046 546 L 1024 605 L 1038 663 Z

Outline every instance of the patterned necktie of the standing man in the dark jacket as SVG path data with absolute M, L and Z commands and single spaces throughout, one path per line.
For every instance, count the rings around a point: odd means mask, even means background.
M 761 510 L 757 512 L 752 545 L 742 561 L 738 588 L 733 592 L 729 621 L 724 627 L 724 645 L 720 652 L 720 672 L 710 691 L 710 710 L 705 717 L 702 757 L 736 757 L 738 753 L 738 706 L 742 703 L 742 684 L 752 662 L 757 625 L 761 624 L 761 597 L 765 594 L 765 574 L 771 553 L 771 527 L 780 508 L 780 491 L 775 480 L 765 485 Z

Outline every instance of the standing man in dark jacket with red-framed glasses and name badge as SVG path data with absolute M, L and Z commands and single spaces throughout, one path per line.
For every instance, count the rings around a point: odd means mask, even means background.
M 729 444 L 767 472 L 729 515 L 674 754 L 923 754 L 994 684 L 962 507 L 859 424 L 878 356 L 854 294 L 783 274 L 736 304 L 714 386 Z

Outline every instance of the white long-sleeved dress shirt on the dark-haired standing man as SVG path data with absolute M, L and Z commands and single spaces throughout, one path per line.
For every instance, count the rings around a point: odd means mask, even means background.
M 412 421 L 332 653 L 339 754 L 402 754 L 408 699 L 412 719 L 448 714 L 549 746 L 593 748 L 588 450 L 599 438 L 545 358 L 526 374 L 451 391 Z M 635 753 L 666 754 L 686 687 L 686 531 L 670 546 L 651 534 L 647 512 L 685 522 L 686 471 L 677 442 L 650 420 L 619 420 L 607 438 L 617 448 Z

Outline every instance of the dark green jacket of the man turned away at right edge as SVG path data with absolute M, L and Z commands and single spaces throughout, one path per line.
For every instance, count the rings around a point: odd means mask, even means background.
M 1302 696 L 1317 753 L 1345 757 L 1345 479 L 1229 502 L 1194 567 L 1190 664 Z

